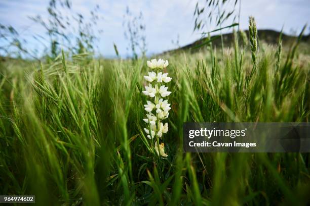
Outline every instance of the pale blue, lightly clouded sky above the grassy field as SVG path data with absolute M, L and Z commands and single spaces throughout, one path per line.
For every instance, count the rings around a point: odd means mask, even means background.
M 98 28 L 103 30 L 97 42 L 98 52 L 104 57 L 114 57 L 113 43 L 122 57 L 130 56 L 128 40 L 124 37 L 123 16 L 126 7 L 134 15 L 143 14 L 147 55 L 158 54 L 176 48 L 172 43 L 179 36 L 179 45 L 183 46 L 200 38 L 193 32 L 193 12 L 197 1 L 202 0 L 72 0 L 72 10 L 86 17 L 89 11 L 99 5 Z M 234 2 L 234 1 L 231 1 Z M 36 15 L 47 18 L 49 1 L 44 0 L 0 0 L 0 24 L 12 25 L 27 41 L 29 48 L 42 46 L 33 39 L 33 35 L 46 36 L 42 26 L 29 19 Z M 239 3 L 237 5 L 238 10 Z M 241 0 L 240 28 L 248 28 L 249 16 L 254 16 L 258 29 L 283 30 L 287 34 L 298 33 L 305 23 L 310 23 L 309 0 Z M 231 22 L 230 22 L 231 23 Z M 229 23 L 227 22 L 227 25 Z M 223 25 L 226 26 L 226 25 Z M 215 29 L 208 25 L 206 31 Z M 305 33 L 309 33 L 310 27 Z M 223 31 L 223 33 L 229 30 Z M 0 39 L 1 41 L 1 39 Z M 1 44 L 1 42 L 0 42 Z

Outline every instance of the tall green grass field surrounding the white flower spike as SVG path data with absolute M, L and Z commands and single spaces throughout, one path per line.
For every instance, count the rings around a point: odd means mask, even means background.
M 309 121 L 309 49 L 253 35 L 222 53 L 159 57 L 173 78 L 167 159 L 143 132 L 146 59 L 2 62 L 0 193 L 42 205 L 306 205 L 309 153 L 182 151 L 183 122 Z

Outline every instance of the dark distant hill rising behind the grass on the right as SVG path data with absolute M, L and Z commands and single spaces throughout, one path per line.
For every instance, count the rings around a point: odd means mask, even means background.
M 245 30 L 245 33 L 247 34 L 247 37 L 249 38 L 249 31 Z M 217 35 L 215 35 L 215 36 L 217 36 Z M 280 32 L 275 31 L 275 30 L 262 29 L 262 30 L 257 31 L 257 36 L 258 36 L 259 41 L 264 41 L 268 44 L 277 44 L 279 42 Z M 290 42 L 295 41 L 295 40 L 296 40 L 296 36 L 290 36 L 290 35 L 282 33 L 283 44 L 289 44 Z M 310 41 L 310 34 L 303 35 L 301 40 L 305 41 L 305 42 L 309 42 Z M 165 53 L 177 52 L 178 50 L 191 49 L 197 45 L 202 44 L 205 41 L 206 41 L 206 38 L 202 38 L 202 39 L 199 39 L 193 43 L 182 46 L 180 48 L 169 50 Z M 233 41 L 234 41 L 234 34 L 233 33 L 223 34 L 224 46 L 231 46 Z M 217 38 L 214 41 L 212 41 L 212 45 L 214 45 L 216 47 L 220 47 L 221 46 L 221 38 Z

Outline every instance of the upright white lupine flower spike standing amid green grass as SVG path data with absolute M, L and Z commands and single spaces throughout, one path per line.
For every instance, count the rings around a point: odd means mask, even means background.
M 168 77 L 168 73 L 163 74 L 161 70 L 168 65 L 168 61 L 162 59 L 147 61 L 147 66 L 156 72 L 150 71 L 148 76 L 144 76 L 148 85 L 142 91 L 144 95 L 150 97 L 150 100 L 147 100 L 146 105 L 144 105 L 144 110 L 147 112 L 146 118 L 143 119 L 147 123 L 147 128 L 144 128 L 144 131 L 147 138 L 152 141 L 154 152 L 162 158 L 168 157 L 165 153 L 165 144 L 159 143 L 160 139 L 163 139 L 163 135 L 168 132 L 168 123 L 164 123 L 163 120 L 168 118 L 171 109 L 168 100 L 164 100 L 164 97 L 169 96 L 171 91 L 168 91 L 168 87 L 164 83 L 170 82 L 172 78 Z M 156 140 L 155 143 L 153 139 Z

